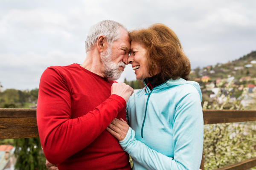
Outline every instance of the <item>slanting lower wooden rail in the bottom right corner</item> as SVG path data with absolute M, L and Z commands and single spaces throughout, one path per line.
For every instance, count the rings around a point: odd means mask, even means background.
M 221 167 L 216 170 L 249 170 L 252 167 L 256 167 L 256 157 L 246 159 L 244 161 L 237 162 L 226 167 Z

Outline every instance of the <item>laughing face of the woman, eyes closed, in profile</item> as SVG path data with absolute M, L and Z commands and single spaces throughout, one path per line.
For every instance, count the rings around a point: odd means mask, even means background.
M 143 45 L 136 41 L 131 41 L 131 51 L 130 56 L 128 57 L 128 62 L 135 71 L 137 80 L 144 80 L 147 77 L 151 77 L 148 74 L 146 60 L 146 49 Z

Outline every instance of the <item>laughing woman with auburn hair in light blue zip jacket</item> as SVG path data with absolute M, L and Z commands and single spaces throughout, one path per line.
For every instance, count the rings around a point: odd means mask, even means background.
M 145 88 L 127 103 L 128 124 L 114 119 L 107 130 L 130 154 L 134 170 L 198 170 L 202 97 L 198 83 L 188 81 L 190 62 L 180 41 L 163 24 L 131 31 L 130 39 L 128 62 Z

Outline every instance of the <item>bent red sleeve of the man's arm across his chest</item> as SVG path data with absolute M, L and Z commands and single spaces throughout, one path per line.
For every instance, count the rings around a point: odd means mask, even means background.
M 93 111 L 71 119 L 71 94 L 65 79 L 57 69 L 47 68 L 41 76 L 37 107 L 38 132 L 45 157 L 52 164 L 60 164 L 84 149 L 125 105 L 122 97 L 111 95 Z

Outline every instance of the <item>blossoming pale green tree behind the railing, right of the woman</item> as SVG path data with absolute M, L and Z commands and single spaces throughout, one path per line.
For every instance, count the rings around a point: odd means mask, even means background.
M 221 87 L 225 82 L 217 83 Z M 230 82 L 225 89 L 232 90 Z M 248 95 L 248 88 L 243 89 L 241 99 Z M 218 97 L 223 103 L 218 102 Z M 212 105 L 204 102 L 203 109 L 236 109 L 243 110 L 240 100 L 230 102 L 230 95 L 221 96 L 219 92 Z M 255 104 L 254 104 L 255 105 Z M 233 164 L 244 159 L 256 156 L 254 147 L 256 146 L 255 122 L 244 123 L 224 123 L 204 126 L 204 167 L 206 170 L 214 170 L 220 167 Z

